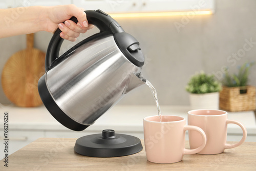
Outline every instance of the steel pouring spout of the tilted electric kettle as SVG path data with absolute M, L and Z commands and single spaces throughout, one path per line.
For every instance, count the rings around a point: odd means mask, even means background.
M 142 84 L 144 84 L 146 82 L 146 79 L 143 78 L 142 74 L 140 73 L 138 76 L 136 76 L 135 74 L 130 74 L 129 76 L 129 81 L 126 84 L 126 88 L 123 92 L 122 95 L 130 92 L 131 90 L 141 86 Z

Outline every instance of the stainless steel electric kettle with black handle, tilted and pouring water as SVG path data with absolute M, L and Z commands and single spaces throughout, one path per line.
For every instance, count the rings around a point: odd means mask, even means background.
M 62 125 L 82 131 L 120 98 L 145 83 L 139 42 L 101 10 L 84 11 L 100 32 L 59 57 L 63 39 L 57 29 L 50 40 L 45 68 L 38 81 L 42 102 Z M 75 23 L 77 18 L 72 17 Z

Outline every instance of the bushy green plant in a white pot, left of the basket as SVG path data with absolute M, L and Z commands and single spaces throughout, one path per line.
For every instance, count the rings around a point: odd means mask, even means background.
M 193 75 L 186 86 L 189 92 L 191 109 L 219 109 L 219 92 L 221 83 L 213 74 L 205 74 L 203 71 Z

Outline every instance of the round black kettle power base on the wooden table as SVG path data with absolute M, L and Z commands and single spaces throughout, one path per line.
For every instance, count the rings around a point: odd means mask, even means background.
M 102 134 L 78 138 L 74 151 L 90 157 L 119 157 L 138 153 L 142 148 L 141 141 L 137 137 L 115 134 L 114 130 L 103 130 Z

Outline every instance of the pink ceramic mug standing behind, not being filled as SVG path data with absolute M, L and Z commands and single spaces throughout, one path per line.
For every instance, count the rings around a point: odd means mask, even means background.
M 227 112 L 221 110 L 193 110 L 188 112 L 188 125 L 201 127 L 204 130 L 207 142 L 199 154 L 219 154 L 224 149 L 241 145 L 247 136 L 245 126 L 234 120 L 227 119 Z M 236 144 L 227 144 L 227 124 L 237 124 L 243 130 L 243 138 Z M 188 131 L 189 145 L 191 148 L 201 143 L 201 136 L 195 131 Z

